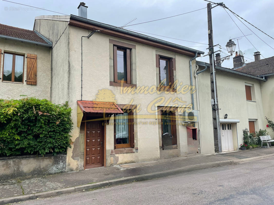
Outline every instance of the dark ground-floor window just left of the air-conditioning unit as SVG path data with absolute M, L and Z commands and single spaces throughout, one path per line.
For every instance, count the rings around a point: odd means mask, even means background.
M 170 145 L 177 145 L 175 112 L 161 110 L 162 147 L 169 149 Z

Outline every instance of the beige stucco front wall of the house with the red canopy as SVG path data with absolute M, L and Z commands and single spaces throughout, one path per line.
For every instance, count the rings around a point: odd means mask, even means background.
M 79 128 L 76 126 L 77 114 L 76 114 L 76 101 L 81 99 L 81 36 L 86 36 L 87 30 L 69 26 L 69 66 L 70 66 L 70 84 L 69 84 L 69 105 L 72 107 L 72 119 L 74 127 L 72 131 L 73 141 L 78 140 Z M 190 85 L 189 75 L 189 60 L 191 57 L 187 57 L 181 54 L 161 50 L 140 43 L 131 42 L 128 40 L 122 40 L 116 37 L 107 36 L 105 34 L 95 33 L 89 39 L 83 38 L 83 90 L 82 100 L 96 100 L 96 94 L 99 90 L 107 89 L 115 95 L 115 102 L 117 104 L 137 104 L 139 105 L 139 115 L 148 115 L 147 107 L 149 104 L 158 97 L 163 97 L 163 102 L 155 102 L 152 109 L 155 109 L 155 104 L 165 104 L 169 98 L 171 98 L 168 105 L 178 104 L 179 106 L 191 104 L 190 92 L 186 94 L 178 93 L 161 93 L 161 94 L 123 94 L 121 93 L 121 87 L 114 87 L 109 85 L 110 72 L 109 72 L 109 39 L 118 40 L 125 43 L 136 45 L 136 84 L 138 86 L 157 86 L 156 77 L 156 52 L 162 54 L 174 55 L 176 57 L 176 78 L 182 85 Z M 193 61 L 193 67 L 195 68 L 195 61 Z M 194 72 L 194 69 L 193 69 Z M 195 84 L 195 83 L 194 83 Z M 195 96 L 194 96 L 195 97 Z M 179 98 L 181 101 L 177 100 Z M 102 100 L 102 99 L 101 99 Z M 107 100 L 106 100 L 107 101 Z M 173 102 L 174 101 L 174 102 Z M 138 144 L 138 153 L 116 154 L 115 157 L 119 157 L 117 164 L 129 163 L 129 162 L 142 162 L 159 159 L 159 129 L 158 119 L 155 114 L 150 116 L 142 116 L 135 119 L 135 147 Z M 110 120 L 111 122 L 111 120 Z M 151 124 L 152 123 L 152 124 Z M 111 124 L 111 123 L 110 123 Z M 185 155 L 187 153 L 187 133 L 186 128 L 183 125 L 179 125 L 177 133 L 179 155 Z M 114 148 L 114 134 L 113 125 L 107 125 L 106 134 L 106 156 L 110 156 L 110 150 Z M 70 165 L 74 165 L 79 162 L 78 158 L 71 157 L 70 153 L 78 149 L 78 145 L 73 145 L 71 149 L 68 149 L 68 161 Z M 212 152 L 212 151 L 211 151 Z M 109 159 L 107 159 L 107 164 Z M 79 165 L 81 167 L 81 165 Z M 76 168 L 75 168 L 76 169 Z

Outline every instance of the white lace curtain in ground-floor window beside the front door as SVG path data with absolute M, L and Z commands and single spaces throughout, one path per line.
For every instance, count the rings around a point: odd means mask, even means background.
M 116 114 L 116 118 L 115 118 L 116 139 L 129 137 L 128 115 L 129 115 L 128 113 Z

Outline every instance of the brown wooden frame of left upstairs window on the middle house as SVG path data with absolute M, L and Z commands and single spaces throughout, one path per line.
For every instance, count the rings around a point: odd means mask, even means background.
M 127 68 L 127 80 L 122 81 L 118 80 L 118 71 L 117 71 L 117 50 L 126 52 L 126 68 Z M 126 83 L 131 84 L 131 68 L 130 68 L 130 48 L 126 48 L 124 46 L 113 45 L 113 72 L 114 72 L 114 83 Z

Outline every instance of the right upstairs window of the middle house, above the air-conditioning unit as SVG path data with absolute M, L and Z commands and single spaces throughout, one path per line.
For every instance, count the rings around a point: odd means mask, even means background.
M 159 86 L 174 88 L 175 58 L 156 54 L 156 67 L 159 68 Z

